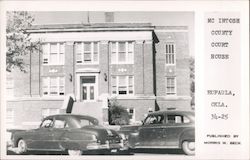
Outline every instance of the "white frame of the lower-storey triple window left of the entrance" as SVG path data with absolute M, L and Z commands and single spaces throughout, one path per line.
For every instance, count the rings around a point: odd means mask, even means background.
M 56 87 L 57 87 L 57 94 L 50 94 L 50 90 L 51 90 L 51 84 L 50 84 L 50 79 L 51 78 L 56 78 Z M 60 84 L 60 78 L 63 78 L 63 81 L 64 81 L 64 83 L 63 83 L 63 85 L 61 85 Z M 43 77 L 43 81 L 44 81 L 44 79 L 47 79 L 47 82 L 48 82 L 48 84 L 47 84 L 47 87 L 48 87 L 48 94 L 44 94 L 44 91 L 42 92 L 43 93 L 43 96 L 50 96 L 50 97 L 54 97 L 54 96 L 64 96 L 65 95 L 65 77 Z M 43 82 L 43 85 L 42 85 L 42 90 L 43 90 L 43 86 L 44 86 L 44 82 Z M 64 88 L 63 88 L 63 95 L 60 95 L 60 86 L 64 86 Z

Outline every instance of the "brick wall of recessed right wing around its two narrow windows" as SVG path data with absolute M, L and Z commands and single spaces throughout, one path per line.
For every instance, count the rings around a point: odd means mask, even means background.
M 156 32 L 156 36 L 159 39 L 159 43 L 156 44 L 155 57 L 157 104 L 160 109 L 166 109 L 169 106 L 190 109 L 188 32 Z M 175 44 L 176 64 L 173 66 L 166 65 L 165 45 L 168 42 Z M 167 76 L 176 77 L 177 94 L 174 97 L 166 96 L 165 78 Z

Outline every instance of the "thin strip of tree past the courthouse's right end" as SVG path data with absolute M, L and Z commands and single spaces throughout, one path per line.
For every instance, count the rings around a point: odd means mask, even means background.
M 189 59 L 189 69 L 190 69 L 190 94 L 192 97 L 191 106 L 195 106 L 195 60 L 193 57 Z

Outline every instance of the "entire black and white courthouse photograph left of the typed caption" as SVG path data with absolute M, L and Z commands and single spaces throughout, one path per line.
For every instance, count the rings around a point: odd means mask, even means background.
M 195 155 L 194 12 L 6 12 L 7 155 Z

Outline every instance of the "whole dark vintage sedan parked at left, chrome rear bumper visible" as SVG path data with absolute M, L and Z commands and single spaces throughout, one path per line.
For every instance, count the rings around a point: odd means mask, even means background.
M 44 118 L 39 128 L 12 132 L 12 144 L 19 153 L 63 151 L 81 155 L 84 151 L 119 152 L 125 150 L 122 137 L 83 115 L 58 114 Z

